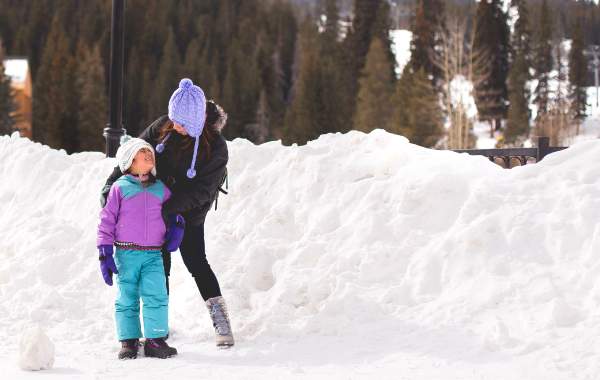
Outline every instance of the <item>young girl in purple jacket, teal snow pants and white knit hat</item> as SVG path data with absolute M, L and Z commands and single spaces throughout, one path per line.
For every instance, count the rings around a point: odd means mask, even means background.
M 168 295 L 161 255 L 165 238 L 168 239 L 161 209 L 171 192 L 156 179 L 154 150 L 146 141 L 138 138 L 126 141 L 117 151 L 117 161 L 125 175 L 112 185 L 100 212 L 97 245 L 104 281 L 112 285 L 112 274 L 117 274 L 115 319 L 121 341 L 119 359 L 137 357 L 142 337 L 140 297 L 144 304 L 144 354 L 164 359 L 177 355 L 177 350 L 165 342 Z M 169 227 L 170 235 L 182 235 L 181 226 Z M 170 250 L 177 249 L 173 245 L 178 242 L 167 243 Z M 114 260 L 113 245 L 117 247 Z

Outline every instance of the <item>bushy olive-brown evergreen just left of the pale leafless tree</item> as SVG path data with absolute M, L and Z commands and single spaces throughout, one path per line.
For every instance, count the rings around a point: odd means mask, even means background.
M 436 146 L 444 135 L 443 114 L 425 68 L 415 73 L 404 70 L 392 105 L 388 131 L 405 136 L 413 144 Z

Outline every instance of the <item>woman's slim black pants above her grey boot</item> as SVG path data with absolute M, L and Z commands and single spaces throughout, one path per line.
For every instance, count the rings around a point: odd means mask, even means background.
M 179 247 L 183 263 L 194 277 L 200 295 L 206 301 L 209 298 L 221 295 L 219 281 L 206 260 L 204 245 L 204 224 L 198 226 L 186 225 L 183 241 Z M 167 277 L 167 291 L 169 291 L 169 275 L 171 274 L 171 253 L 163 250 L 163 264 Z

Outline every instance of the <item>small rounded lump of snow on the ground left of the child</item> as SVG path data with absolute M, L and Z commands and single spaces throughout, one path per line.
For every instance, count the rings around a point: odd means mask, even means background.
M 54 344 L 39 327 L 30 327 L 21 334 L 19 367 L 27 371 L 50 369 L 54 365 Z

